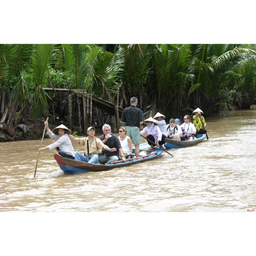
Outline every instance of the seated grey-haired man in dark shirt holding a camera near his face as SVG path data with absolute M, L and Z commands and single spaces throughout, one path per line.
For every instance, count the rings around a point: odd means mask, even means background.
M 124 152 L 118 136 L 111 132 L 111 127 L 108 124 L 102 126 L 103 135 L 100 136 L 100 140 L 109 148 L 116 148 L 116 151 L 102 151 L 102 155 L 99 157 L 100 164 L 110 164 L 111 162 L 116 162 L 119 160 L 119 153 L 121 155 L 121 160 L 126 162 L 124 157 Z M 117 151 L 118 150 L 118 151 Z

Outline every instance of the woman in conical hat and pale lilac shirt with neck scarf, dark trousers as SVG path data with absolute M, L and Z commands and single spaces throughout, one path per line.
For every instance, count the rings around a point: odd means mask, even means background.
M 140 132 L 141 135 L 147 133 L 148 136 L 146 136 L 146 138 L 148 138 L 148 144 L 151 146 L 151 149 L 154 148 L 154 145 L 149 141 L 151 140 L 152 142 L 155 142 L 156 146 L 158 146 L 158 148 L 164 148 L 164 142 L 165 142 L 165 136 L 162 134 L 162 132 L 160 131 L 157 122 L 154 118 L 150 117 L 148 119 L 146 119 L 144 122 L 146 122 L 146 127 Z

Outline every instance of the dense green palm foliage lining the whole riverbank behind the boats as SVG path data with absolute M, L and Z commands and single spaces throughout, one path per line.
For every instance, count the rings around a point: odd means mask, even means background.
M 119 98 L 121 107 L 136 96 L 144 114 L 153 110 L 168 118 L 197 107 L 205 116 L 230 105 L 250 108 L 255 45 L 0 44 L 1 123 L 15 127 L 26 113 L 47 116 L 50 98 L 42 88 L 50 86 L 92 88 L 112 103 Z

